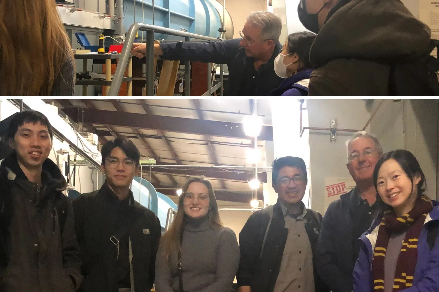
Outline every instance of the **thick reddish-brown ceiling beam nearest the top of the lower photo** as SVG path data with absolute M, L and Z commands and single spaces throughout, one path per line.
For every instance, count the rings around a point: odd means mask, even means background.
M 241 123 L 122 113 L 112 110 L 83 109 L 80 113 L 76 109 L 66 109 L 66 111 L 74 121 L 83 120 L 92 124 L 249 139 Z M 263 126 L 258 139 L 273 141 L 273 128 Z

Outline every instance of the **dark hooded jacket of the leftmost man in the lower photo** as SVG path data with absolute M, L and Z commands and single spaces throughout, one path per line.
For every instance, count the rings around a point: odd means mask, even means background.
M 1 162 L 0 291 L 74 292 L 81 284 L 72 203 L 50 159 L 42 181 L 29 182 L 15 152 Z

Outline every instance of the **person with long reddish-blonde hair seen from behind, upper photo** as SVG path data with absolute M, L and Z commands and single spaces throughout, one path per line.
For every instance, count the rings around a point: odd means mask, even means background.
M 72 47 L 54 0 L 0 0 L 0 96 L 73 96 Z

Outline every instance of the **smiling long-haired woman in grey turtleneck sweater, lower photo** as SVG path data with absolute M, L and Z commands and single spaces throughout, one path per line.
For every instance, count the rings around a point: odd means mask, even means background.
M 212 184 L 191 178 L 162 236 L 155 264 L 157 292 L 230 292 L 239 265 L 235 233 L 223 227 Z

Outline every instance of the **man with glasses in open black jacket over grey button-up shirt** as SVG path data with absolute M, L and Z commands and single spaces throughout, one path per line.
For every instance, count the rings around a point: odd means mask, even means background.
M 302 158 L 273 161 L 277 203 L 253 213 L 239 233 L 240 292 L 327 292 L 314 269 L 322 216 L 302 203 L 308 178 Z

